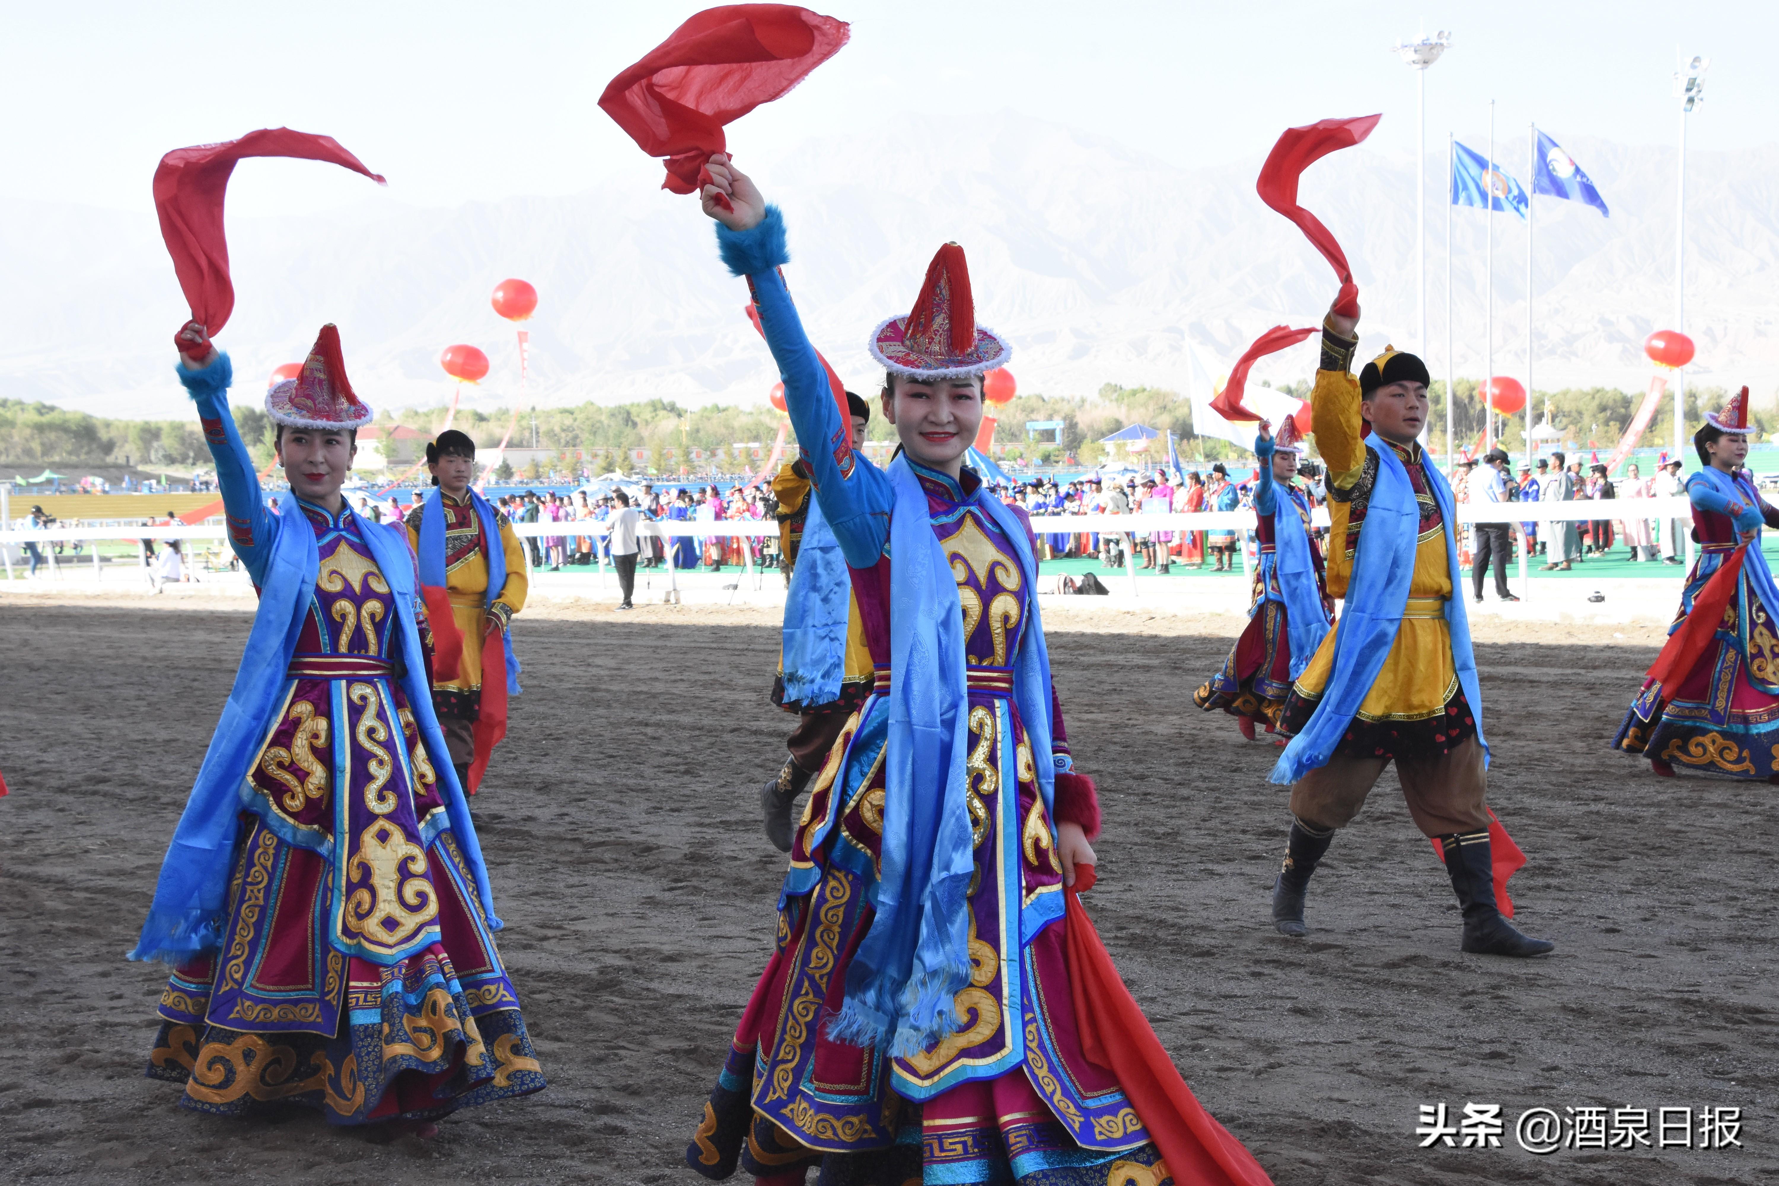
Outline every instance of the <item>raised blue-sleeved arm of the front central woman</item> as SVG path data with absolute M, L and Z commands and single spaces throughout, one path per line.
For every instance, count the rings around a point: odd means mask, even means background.
M 847 427 L 827 386 L 827 368 L 809 345 L 779 276 L 779 267 L 790 260 L 785 217 L 777 206 L 767 206 L 754 183 L 720 153 L 710 158 L 708 169 L 712 185 L 704 187 L 704 213 L 719 222 L 722 261 L 735 276 L 747 277 L 822 516 L 834 530 L 847 564 L 870 567 L 882 558 L 890 539 L 895 496 L 890 478 L 847 446 Z M 715 201 L 719 196 L 728 199 L 728 210 Z

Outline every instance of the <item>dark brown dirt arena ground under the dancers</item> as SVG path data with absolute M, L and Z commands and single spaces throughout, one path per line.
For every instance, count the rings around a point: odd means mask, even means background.
M 240 601 L 0 603 L 0 1181 L 703 1181 L 681 1152 L 783 869 L 754 789 L 788 724 L 765 699 L 770 615 L 519 619 L 527 692 L 477 813 L 550 1090 L 391 1143 L 187 1113 L 142 1078 L 164 969 L 123 953 L 247 624 Z M 1105 804 L 1089 910 L 1274 1181 L 1779 1181 L 1779 789 L 1658 781 L 1606 749 L 1656 631 L 1478 631 L 1491 800 L 1530 857 L 1519 923 L 1558 944 L 1521 964 L 1459 953 L 1393 775 L 1316 875 L 1311 937 L 1274 934 L 1276 750 L 1190 706 L 1235 626 L 1057 612 L 1050 645 Z M 1500 1104 L 1503 1147 L 1420 1149 L 1418 1106 L 1439 1102 Z M 1742 1149 L 1539 1158 L 1514 1142 L 1533 1106 L 1740 1106 Z

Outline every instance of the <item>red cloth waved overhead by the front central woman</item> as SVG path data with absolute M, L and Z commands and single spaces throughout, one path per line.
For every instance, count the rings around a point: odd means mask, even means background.
M 722 126 L 781 98 L 849 36 L 845 21 L 792 4 L 704 9 L 612 78 L 600 107 L 667 158 L 662 188 L 696 194 L 710 181 L 704 162 L 726 149 Z

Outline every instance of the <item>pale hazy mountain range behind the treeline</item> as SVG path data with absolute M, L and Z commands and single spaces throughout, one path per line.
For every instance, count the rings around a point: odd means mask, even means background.
M 1612 206 L 1537 197 L 1537 388 L 1642 388 L 1642 340 L 1674 320 L 1672 148 L 1555 132 Z M 1477 149 L 1485 144 L 1466 137 Z M 845 139 L 742 151 L 785 210 L 786 279 L 809 334 L 849 386 L 881 377 L 865 336 L 906 313 L 939 244 L 964 245 L 984 324 L 1010 338 L 1019 389 L 1082 395 L 1101 384 L 1187 391 L 1192 356 L 1217 375 L 1261 331 L 1313 325 L 1334 293 L 1324 260 L 1254 194 L 1252 160 L 1199 167 L 1190 142 L 1135 151 L 1103 135 L 1016 114 L 897 117 Z M 1260 146 L 1261 149 L 1265 146 Z M 749 155 L 753 151 L 753 155 Z M 1526 140 L 1496 142 L 1523 183 Z M 253 162 L 246 162 L 251 169 Z M 317 165 L 322 167 L 322 165 Z M 183 416 L 171 336 L 187 309 L 148 203 L 141 212 L 0 201 L 11 283 L 0 313 L 0 395 L 105 416 Z M 1779 388 L 1779 146 L 1692 153 L 1686 162 L 1686 333 L 1692 382 Z M 747 324 L 745 284 L 715 254 L 690 197 L 656 188 L 660 169 L 569 197 L 409 208 L 388 192 L 308 217 L 229 224 L 235 317 L 219 341 L 237 398 L 301 361 L 336 322 L 354 388 L 377 407 L 438 405 L 438 366 L 457 341 L 486 350 L 489 377 L 464 400 L 496 405 L 760 402 L 776 381 Z M 1429 144 L 1427 293 L 1436 375 L 1446 372 L 1446 151 Z M 1354 263 L 1361 354 L 1418 338 L 1414 162 L 1336 153 L 1304 174 L 1300 201 Z M 1452 366 L 1485 373 L 1485 222 L 1452 219 Z M 521 389 L 512 325 L 489 292 L 532 281 L 530 373 Z M 1494 373 L 1526 377 L 1526 229 L 1494 215 Z M 1288 382 L 1315 368 L 1304 343 L 1254 370 Z

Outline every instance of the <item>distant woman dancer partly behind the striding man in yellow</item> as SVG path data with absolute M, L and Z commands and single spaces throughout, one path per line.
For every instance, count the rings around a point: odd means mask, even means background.
M 1292 484 L 1304 455 L 1297 421 L 1286 416 L 1277 441 L 1261 421 L 1254 455 L 1260 459 L 1254 605 L 1247 612 L 1247 629 L 1235 640 L 1222 670 L 1192 695 L 1199 708 L 1220 708 L 1235 717 L 1249 741 L 1254 740 L 1256 722 L 1265 724 L 1267 733 L 1276 731 L 1292 681 L 1304 674 L 1334 617 L 1322 549 L 1309 533 L 1309 500 Z

